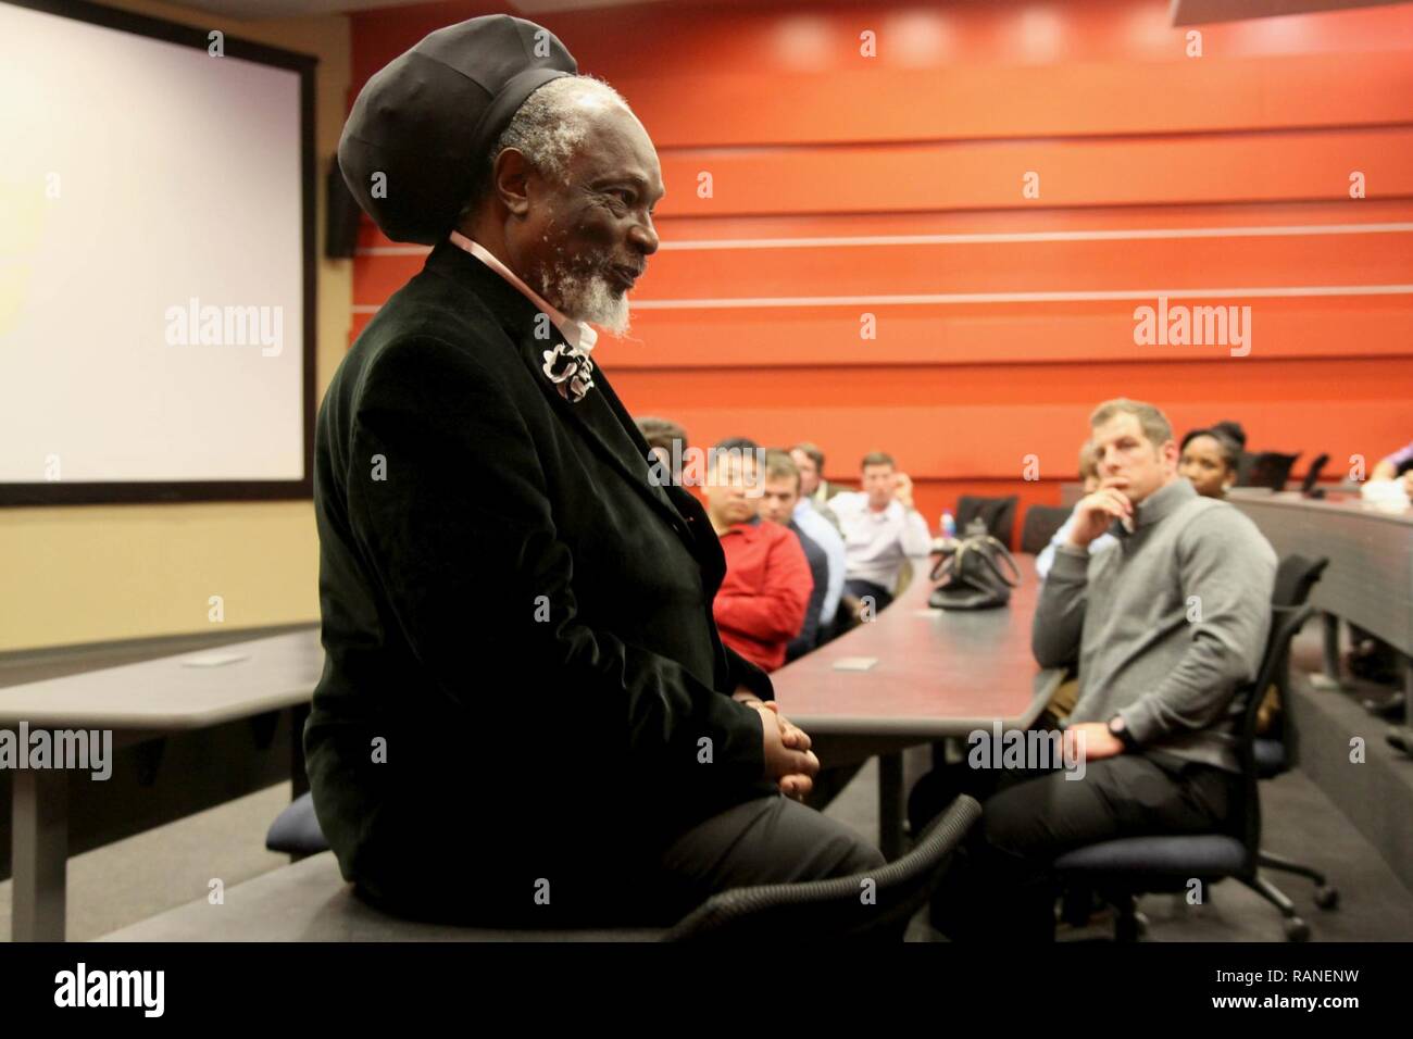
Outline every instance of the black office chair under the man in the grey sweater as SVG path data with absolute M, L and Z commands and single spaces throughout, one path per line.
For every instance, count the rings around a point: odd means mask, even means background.
M 1121 837 L 1070 851 L 1054 861 L 1061 885 L 1095 891 L 1115 906 L 1116 940 L 1137 940 L 1139 895 L 1186 891 L 1193 879 L 1201 881 L 1205 889 L 1228 876 L 1236 878 L 1280 910 L 1290 941 L 1306 941 L 1310 937 L 1310 924 L 1300 919 L 1296 906 L 1258 871 L 1260 792 L 1255 745 L 1262 695 L 1272 683 L 1286 688 L 1290 642 L 1314 612 L 1308 605 L 1273 608 L 1270 638 L 1256 681 L 1245 687 L 1236 701 L 1241 710 L 1236 761 L 1245 789 L 1229 833 Z

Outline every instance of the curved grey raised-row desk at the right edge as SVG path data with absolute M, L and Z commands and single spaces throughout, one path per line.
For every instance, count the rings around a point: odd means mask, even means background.
M 1293 492 L 1234 489 L 1277 556 L 1328 557 L 1310 595 L 1324 616 L 1324 671 L 1340 680 L 1340 621 L 1348 621 L 1413 659 L 1413 507 L 1388 510 L 1358 495 L 1304 498 Z M 1405 667 L 1413 703 L 1413 664 Z M 1410 708 L 1413 710 L 1413 708 Z

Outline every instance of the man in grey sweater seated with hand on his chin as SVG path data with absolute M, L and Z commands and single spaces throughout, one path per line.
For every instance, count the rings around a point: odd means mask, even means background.
M 1091 425 L 1102 482 L 1075 506 L 1031 628 L 1041 666 L 1080 664 L 1068 761 L 961 762 L 920 780 L 910 802 L 914 827 L 958 792 L 985 802 L 934 902 L 952 937 L 1053 939 L 1057 855 L 1221 831 L 1242 792 L 1234 698 L 1265 652 L 1276 553 L 1238 509 L 1178 478 L 1156 407 L 1111 400 Z M 1106 532 L 1119 544 L 1091 554 Z

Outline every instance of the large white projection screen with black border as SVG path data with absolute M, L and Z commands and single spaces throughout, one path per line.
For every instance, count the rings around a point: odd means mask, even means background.
M 0 505 L 308 496 L 312 74 L 0 0 Z

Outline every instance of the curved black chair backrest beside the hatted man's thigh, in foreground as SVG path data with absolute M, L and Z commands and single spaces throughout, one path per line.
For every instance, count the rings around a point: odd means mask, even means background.
M 903 937 L 909 920 L 933 896 L 947 861 L 981 818 L 965 794 L 923 831 L 903 858 L 872 874 L 804 884 L 767 884 L 712 895 L 682 917 L 664 941 Z

